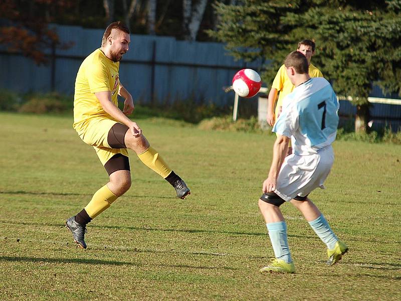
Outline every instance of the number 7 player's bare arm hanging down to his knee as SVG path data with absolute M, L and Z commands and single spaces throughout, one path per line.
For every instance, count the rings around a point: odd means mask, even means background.
M 281 165 L 288 152 L 289 137 L 278 134 L 277 139 L 273 146 L 273 160 L 270 166 L 269 176 L 263 182 L 262 190 L 263 193 L 274 192 L 276 189 L 276 180 L 279 175 Z

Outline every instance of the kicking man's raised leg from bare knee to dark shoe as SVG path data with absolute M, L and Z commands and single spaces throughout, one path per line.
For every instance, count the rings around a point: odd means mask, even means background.
M 159 153 L 150 146 L 143 134 L 135 137 L 127 127 L 124 141 L 126 147 L 132 149 L 144 165 L 159 174 L 174 187 L 178 198 L 185 199 L 190 194 L 190 190 L 185 182 L 168 167 Z

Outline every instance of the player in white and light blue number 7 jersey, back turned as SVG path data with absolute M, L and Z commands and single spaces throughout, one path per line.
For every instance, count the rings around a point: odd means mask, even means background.
M 341 259 L 348 246 L 340 241 L 316 205 L 308 199 L 323 183 L 334 162 L 331 143 L 338 126 L 338 100 L 324 78 L 310 78 L 308 61 L 300 52 L 290 53 L 284 62 L 296 87 L 284 99 L 283 110 L 273 127 L 277 139 L 269 176 L 263 182 L 259 208 L 269 231 L 275 257 L 262 272 L 295 272 L 287 241 L 287 225 L 280 205 L 291 202 L 327 246 L 327 265 Z M 286 157 L 293 138 L 294 153 Z

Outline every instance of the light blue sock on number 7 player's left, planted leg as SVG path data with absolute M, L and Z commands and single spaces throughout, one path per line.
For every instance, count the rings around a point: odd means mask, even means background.
M 268 223 L 266 224 L 266 227 L 269 231 L 274 256 L 287 263 L 292 262 L 290 248 L 287 241 L 287 224 L 285 222 Z

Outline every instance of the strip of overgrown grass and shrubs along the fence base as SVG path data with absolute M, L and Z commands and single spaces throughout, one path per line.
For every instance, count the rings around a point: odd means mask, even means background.
M 261 127 L 257 117 L 252 116 L 250 106 L 242 106 L 241 116 L 236 122 L 232 120 L 230 107 L 218 107 L 212 102 L 203 101 L 202 97 L 190 97 L 189 99 L 175 99 L 174 102 L 164 101 L 153 104 L 141 105 L 141 101 L 135 101 L 135 117 L 163 117 L 183 120 L 197 124 L 199 128 L 210 130 L 229 130 L 243 132 L 259 132 L 271 134 L 271 127 Z M 244 102 L 245 103 L 245 102 Z M 122 108 L 123 103 L 119 103 Z M 61 95 L 57 92 L 50 93 L 26 93 L 19 94 L 9 90 L 0 90 L 0 110 L 22 113 L 66 113 L 72 112 L 74 97 Z M 355 133 L 350 124 L 344 124 L 337 131 L 337 139 L 365 141 L 369 143 L 388 142 L 401 144 L 401 130 L 393 132 L 385 127 L 382 131 L 368 133 Z

